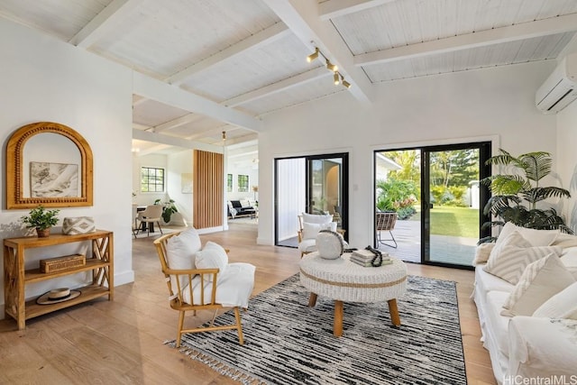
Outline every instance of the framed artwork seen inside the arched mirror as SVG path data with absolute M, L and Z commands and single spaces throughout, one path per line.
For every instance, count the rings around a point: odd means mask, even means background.
M 32 197 L 79 197 L 78 164 L 30 162 Z

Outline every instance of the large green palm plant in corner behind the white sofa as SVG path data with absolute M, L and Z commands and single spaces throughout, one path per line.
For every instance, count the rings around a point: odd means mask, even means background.
M 497 174 L 481 183 L 488 186 L 493 194 L 483 209 L 485 215 L 499 219 L 486 222 L 483 228 L 493 225 L 505 225 L 511 222 L 521 227 L 539 230 L 560 229 L 563 233 L 572 234 L 560 215 L 553 207 L 537 208 L 537 203 L 550 197 L 571 197 L 568 190 L 556 187 L 541 187 L 539 181 L 551 173 L 553 160 L 545 151 L 528 152 L 518 157 L 508 151 L 499 149 L 500 155 L 487 160 L 487 164 L 512 166 L 511 174 Z M 480 242 L 492 241 L 487 237 Z

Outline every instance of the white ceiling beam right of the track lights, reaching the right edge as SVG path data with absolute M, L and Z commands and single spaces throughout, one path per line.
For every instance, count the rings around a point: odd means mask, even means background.
M 519 23 L 491 30 L 467 33 L 435 41 L 425 41 L 354 57 L 357 67 L 407 60 L 439 53 L 468 50 L 509 41 L 520 41 L 557 33 L 577 31 L 577 14 L 566 14 L 536 22 Z

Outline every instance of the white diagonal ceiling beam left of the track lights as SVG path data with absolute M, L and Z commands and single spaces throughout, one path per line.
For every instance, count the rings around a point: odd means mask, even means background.
M 285 36 L 289 36 L 290 30 L 284 23 L 276 23 L 266 30 L 255 33 L 243 41 L 239 41 L 237 44 L 230 46 L 225 50 L 215 53 L 209 56 L 205 60 L 200 60 L 197 63 L 183 69 L 176 74 L 166 78 L 170 84 L 179 85 L 182 84 L 187 78 L 200 71 L 208 69 L 224 60 L 230 60 L 237 55 L 242 54 L 246 50 L 256 50 L 265 45 L 268 45 L 274 41 L 278 41 Z

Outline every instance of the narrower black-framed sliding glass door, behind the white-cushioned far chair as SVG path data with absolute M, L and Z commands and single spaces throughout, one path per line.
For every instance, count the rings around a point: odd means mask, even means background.
M 347 153 L 275 160 L 275 244 L 298 246 L 298 215 L 303 212 L 332 214 L 347 229 Z

